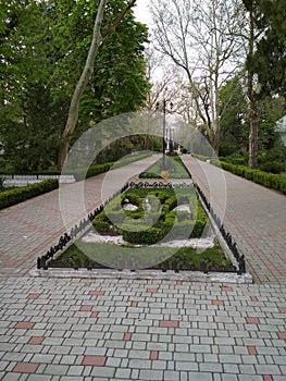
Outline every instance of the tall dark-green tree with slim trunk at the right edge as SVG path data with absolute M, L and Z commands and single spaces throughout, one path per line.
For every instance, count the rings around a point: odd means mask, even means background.
M 248 11 L 247 81 L 250 110 L 249 167 L 258 167 L 258 100 L 286 90 L 286 37 L 284 0 L 243 0 Z

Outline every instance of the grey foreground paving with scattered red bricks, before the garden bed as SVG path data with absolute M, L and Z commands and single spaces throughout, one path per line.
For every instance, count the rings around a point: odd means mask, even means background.
M 286 287 L 18 278 L 2 381 L 285 381 Z

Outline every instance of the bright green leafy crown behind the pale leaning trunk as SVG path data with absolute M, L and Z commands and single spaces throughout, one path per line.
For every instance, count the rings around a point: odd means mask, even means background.
M 52 38 L 60 52 L 52 78 L 58 84 L 54 89 L 58 98 L 71 94 L 80 76 L 92 37 L 97 7 L 97 2 L 86 0 L 60 0 L 51 10 Z M 103 30 L 125 7 L 124 0 L 108 2 Z M 137 23 L 133 11 L 129 11 L 116 30 L 104 39 L 80 101 L 75 137 L 103 119 L 136 111 L 145 105 L 149 90 L 144 58 L 147 36 L 147 27 Z

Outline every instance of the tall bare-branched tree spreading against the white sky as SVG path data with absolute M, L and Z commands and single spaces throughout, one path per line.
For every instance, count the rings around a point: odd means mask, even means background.
M 164 1 L 152 5 L 158 49 L 186 74 L 189 90 L 213 148 L 220 143 L 219 90 L 239 46 L 229 37 L 237 30 L 238 1 Z M 198 122 L 201 124 L 201 122 Z

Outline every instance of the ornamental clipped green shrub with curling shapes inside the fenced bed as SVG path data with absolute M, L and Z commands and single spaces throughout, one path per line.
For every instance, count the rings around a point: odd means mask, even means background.
M 151 212 L 145 211 L 147 198 L 151 205 Z M 189 202 L 191 212 L 173 211 L 178 200 Z M 122 205 L 127 201 L 136 205 L 138 209 L 122 209 Z M 196 194 L 181 189 L 175 195 L 172 188 L 129 189 L 109 202 L 92 221 L 99 233 L 114 234 L 119 231 L 126 242 L 134 245 L 153 245 L 164 239 L 171 230 L 172 235 L 167 236 L 169 239 L 199 237 L 207 223 L 208 217 Z

